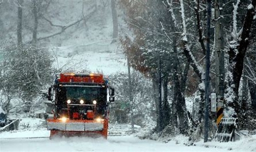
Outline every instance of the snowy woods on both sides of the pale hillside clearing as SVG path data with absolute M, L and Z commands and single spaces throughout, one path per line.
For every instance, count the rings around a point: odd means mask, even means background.
M 256 129 L 256 0 L 81 2 L 80 15 L 63 23 L 55 22 L 59 14 L 49 11 L 57 1 L 0 4 L 0 13 L 16 9 L 12 26 L 0 20 L 0 34 L 6 35 L 0 42 L 0 89 L 5 96 L 0 103 L 6 112 L 12 109 L 12 98 L 22 99 L 18 106 L 27 105 L 29 112 L 54 73 L 63 72 L 51 67 L 53 58 L 46 49 L 50 40 L 82 22 L 89 29 L 88 20 L 109 6 L 112 43 L 122 46 L 133 69 L 110 75 L 117 96 L 127 102 L 125 108 L 116 106 L 113 121 L 146 126 L 148 120 L 156 120 L 153 133 L 178 132 L 197 140 L 204 131 L 206 110 L 210 131 L 215 132 L 215 113 L 206 103 L 216 93 L 224 98 L 224 117 L 238 118 L 238 130 Z M 119 21 L 127 29 L 121 29 Z M 15 36 L 8 35 L 11 31 Z M 192 110 L 186 105 L 188 98 L 193 98 Z

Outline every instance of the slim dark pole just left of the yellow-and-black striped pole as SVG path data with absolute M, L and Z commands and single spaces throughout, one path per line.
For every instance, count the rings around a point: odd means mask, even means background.
M 210 27 L 211 27 L 211 0 L 207 0 L 207 43 L 206 43 L 206 92 L 205 92 L 205 115 L 204 115 L 204 142 L 208 141 L 209 129 L 209 84 L 210 84 Z

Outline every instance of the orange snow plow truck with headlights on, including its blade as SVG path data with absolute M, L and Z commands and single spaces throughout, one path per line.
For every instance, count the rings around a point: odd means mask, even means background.
M 47 120 L 50 139 L 55 136 L 103 136 L 107 139 L 109 103 L 114 88 L 102 74 L 61 73 L 48 90 L 54 104 Z

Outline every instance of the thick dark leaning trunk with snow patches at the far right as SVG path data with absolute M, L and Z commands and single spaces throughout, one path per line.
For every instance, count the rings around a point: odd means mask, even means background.
M 238 89 L 241 80 L 242 70 L 244 68 L 244 57 L 247 52 L 249 44 L 249 37 L 251 32 L 252 20 L 255 14 L 256 0 L 252 0 L 250 8 L 248 7 L 245 15 L 244 24 L 242 26 L 242 32 L 238 39 L 237 46 L 230 46 L 229 67 L 228 67 L 228 89 L 225 98 L 227 99 L 227 106 L 230 112 L 227 112 L 227 116 L 238 116 L 240 113 L 240 106 L 238 104 Z M 231 97 L 231 98 L 230 98 Z M 241 118 L 238 118 L 238 121 Z

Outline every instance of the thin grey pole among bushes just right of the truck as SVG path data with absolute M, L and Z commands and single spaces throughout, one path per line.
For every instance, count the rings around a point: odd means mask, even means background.
M 129 85 L 129 101 L 130 101 L 130 111 L 131 111 L 131 125 L 132 125 L 132 133 L 134 133 L 132 80 L 131 80 L 129 57 L 127 57 L 127 67 L 128 67 L 128 85 Z

